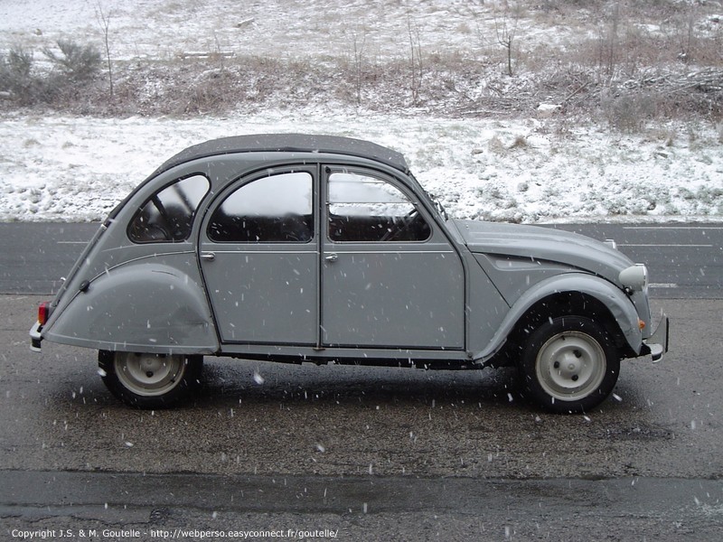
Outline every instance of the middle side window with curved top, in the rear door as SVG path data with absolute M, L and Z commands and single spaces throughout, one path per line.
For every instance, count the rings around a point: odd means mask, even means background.
M 314 237 L 310 173 L 279 173 L 240 186 L 213 212 L 219 243 L 306 243 Z

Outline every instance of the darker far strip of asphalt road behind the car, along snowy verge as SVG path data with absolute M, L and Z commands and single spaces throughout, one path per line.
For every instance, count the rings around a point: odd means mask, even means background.
M 654 297 L 723 297 L 723 224 L 564 224 L 648 265 Z M 99 224 L 0 223 L 0 293 L 50 294 Z

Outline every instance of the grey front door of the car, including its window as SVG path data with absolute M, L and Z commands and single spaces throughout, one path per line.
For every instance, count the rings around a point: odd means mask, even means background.
M 464 348 L 464 268 L 427 210 L 391 176 L 323 171 L 324 346 Z

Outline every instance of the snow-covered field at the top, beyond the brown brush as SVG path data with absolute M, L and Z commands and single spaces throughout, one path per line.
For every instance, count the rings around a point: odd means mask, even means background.
M 354 38 L 369 58 L 406 56 L 410 31 L 429 54 L 471 51 L 492 40 L 502 5 L 498 0 L 0 0 L 0 47 L 23 43 L 41 49 L 58 38 L 100 43 L 105 17 L 116 60 L 199 51 L 352 55 Z M 559 42 L 570 34 L 552 18 L 525 36 Z

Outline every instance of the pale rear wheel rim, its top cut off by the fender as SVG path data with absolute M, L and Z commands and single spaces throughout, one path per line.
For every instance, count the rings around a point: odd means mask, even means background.
M 178 386 L 185 369 L 184 356 L 116 352 L 114 363 L 121 384 L 139 396 L 162 396 Z

